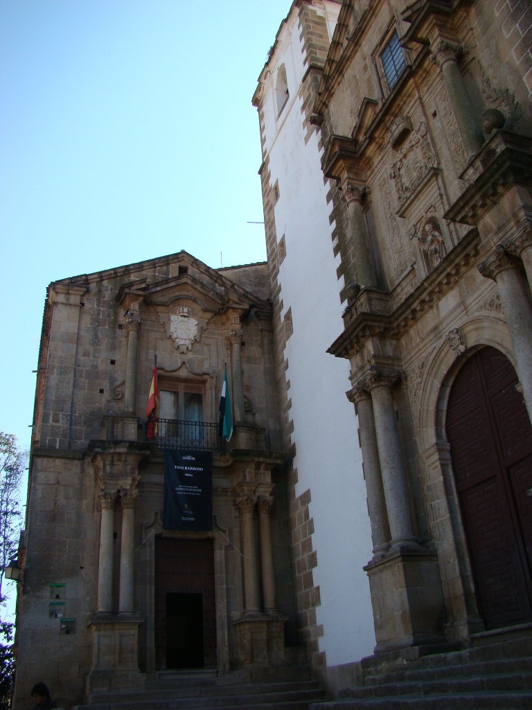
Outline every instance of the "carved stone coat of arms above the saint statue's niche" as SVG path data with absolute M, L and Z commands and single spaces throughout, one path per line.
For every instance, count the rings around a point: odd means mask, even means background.
M 408 200 L 434 165 L 436 155 L 428 139 L 426 123 L 421 121 L 408 141 L 397 151 L 397 158 L 392 163 L 390 178 L 395 185 L 399 206 Z

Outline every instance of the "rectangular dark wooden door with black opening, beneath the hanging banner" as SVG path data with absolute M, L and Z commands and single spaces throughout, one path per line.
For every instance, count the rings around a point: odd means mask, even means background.
M 155 538 L 157 670 L 216 668 L 213 540 Z

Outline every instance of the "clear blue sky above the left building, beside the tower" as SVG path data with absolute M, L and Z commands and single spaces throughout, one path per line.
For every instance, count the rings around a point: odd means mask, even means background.
M 28 447 L 46 286 L 265 260 L 251 97 L 290 0 L 0 0 L 0 429 Z

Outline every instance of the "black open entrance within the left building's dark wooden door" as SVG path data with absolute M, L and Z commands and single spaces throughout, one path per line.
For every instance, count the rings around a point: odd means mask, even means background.
M 166 595 L 166 667 L 203 668 L 203 595 Z

